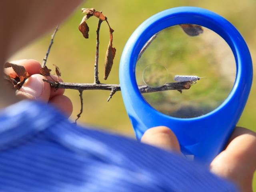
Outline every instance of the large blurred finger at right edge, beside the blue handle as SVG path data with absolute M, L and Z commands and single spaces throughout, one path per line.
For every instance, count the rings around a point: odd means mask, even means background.
M 238 184 L 241 191 L 252 190 L 256 169 L 256 133 L 236 127 L 228 146 L 212 161 L 210 170 Z

